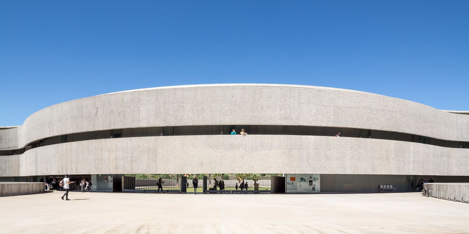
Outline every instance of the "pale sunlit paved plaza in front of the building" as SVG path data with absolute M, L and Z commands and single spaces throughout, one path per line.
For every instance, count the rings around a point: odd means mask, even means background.
M 469 204 L 419 193 L 0 197 L 0 233 L 469 233 Z

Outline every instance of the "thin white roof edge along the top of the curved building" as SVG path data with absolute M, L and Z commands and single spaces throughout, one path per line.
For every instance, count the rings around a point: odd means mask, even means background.
M 346 89 L 346 88 L 330 88 L 330 87 L 322 87 L 322 86 L 310 86 L 310 85 L 287 85 L 287 84 L 249 84 L 249 83 L 242 83 L 242 84 L 198 84 L 198 85 L 175 85 L 175 86 L 161 86 L 161 87 L 154 87 L 154 88 L 138 88 L 138 89 L 130 89 L 118 92 L 112 92 L 107 94 L 115 94 L 115 93 L 123 93 L 123 92 L 132 92 L 132 91 L 142 91 L 142 90 L 151 90 L 151 89 L 162 89 L 162 88 L 190 88 L 190 87 L 210 87 L 210 86 L 274 86 L 274 87 L 297 87 L 297 88 L 322 88 L 322 89 L 331 89 L 331 90 L 342 90 L 342 91 L 349 91 L 349 92 L 359 92 L 359 93 L 369 93 L 363 92 L 353 89 Z M 369 93 L 371 94 L 371 93 Z M 106 94 L 100 94 L 106 95 Z M 100 96 L 97 95 L 97 96 Z

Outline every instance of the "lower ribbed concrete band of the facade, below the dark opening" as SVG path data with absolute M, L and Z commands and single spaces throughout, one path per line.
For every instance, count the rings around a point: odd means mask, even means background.
M 382 139 L 297 135 L 98 139 L 42 146 L 0 159 L 1 164 L 7 165 L 2 167 L 0 176 L 130 173 L 469 174 L 469 149 Z

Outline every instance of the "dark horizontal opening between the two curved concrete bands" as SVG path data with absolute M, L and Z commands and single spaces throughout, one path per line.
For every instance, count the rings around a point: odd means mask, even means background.
M 198 125 L 198 126 L 166 126 L 113 129 L 92 132 L 78 132 L 41 139 L 15 150 L 2 150 L 0 156 L 23 154 L 25 151 L 40 146 L 49 146 L 66 142 L 110 139 L 124 137 L 156 137 L 156 136 L 189 136 L 189 135 L 230 135 L 235 130 L 240 135 L 242 129 L 250 135 L 304 135 L 331 136 L 340 132 L 340 137 L 371 138 L 416 142 L 449 148 L 469 148 L 467 141 L 452 141 L 429 138 L 415 134 L 369 130 L 359 128 L 296 126 L 296 125 Z

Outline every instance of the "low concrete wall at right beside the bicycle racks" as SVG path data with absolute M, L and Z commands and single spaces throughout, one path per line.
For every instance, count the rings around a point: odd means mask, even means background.
M 468 202 L 469 183 L 424 183 L 431 197 Z

